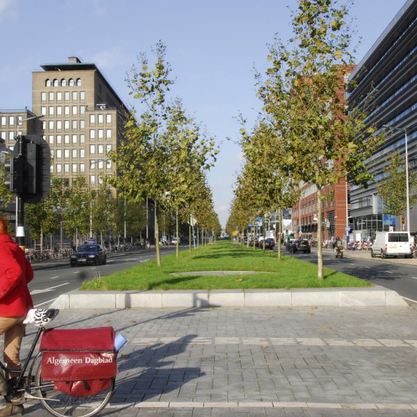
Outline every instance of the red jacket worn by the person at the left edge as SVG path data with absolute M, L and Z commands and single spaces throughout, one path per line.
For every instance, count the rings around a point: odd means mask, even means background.
M 0 317 L 26 316 L 33 309 L 28 283 L 31 263 L 8 234 L 0 234 Z

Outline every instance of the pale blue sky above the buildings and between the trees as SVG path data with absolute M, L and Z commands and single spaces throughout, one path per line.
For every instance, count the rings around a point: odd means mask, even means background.
M 405 0 L 356 0 L 358 62 Z M 295 0 L 0 0 L 0 108 L 31 108 L 31 73 L 44 63 L 79 56 L 96 63 L 124 103 L 134 103 L 126 72 L 140 52 L 162 40 L 188 113 L 220 145 L 208 174 L 224 225 L 233 198 L 240 150 L 236 116 L 253 122 L 260 108 L 252 68 L 265 68 L 275 34 L 291 36 Z

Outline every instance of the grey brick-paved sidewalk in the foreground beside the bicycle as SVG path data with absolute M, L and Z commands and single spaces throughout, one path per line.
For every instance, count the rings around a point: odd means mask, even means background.
M 129 339 L 101 415 L 144 417 L 417 416 L 416 323 L 414 307 L 63 310 L 54 321 Z

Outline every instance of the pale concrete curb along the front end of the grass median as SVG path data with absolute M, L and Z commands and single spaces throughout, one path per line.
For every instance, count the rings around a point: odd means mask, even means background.
M 56 309 L 165 309 L 208 307 L 408 306 L 395 291 L 372 288 L 295 288 L 195 291 L 72 291 Z

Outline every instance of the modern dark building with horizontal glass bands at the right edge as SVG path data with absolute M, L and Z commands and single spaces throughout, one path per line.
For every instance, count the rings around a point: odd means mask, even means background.
M 350 80 L 355 87 L 347 92 L 350 107 L 370 109 L 366 122 L 384 129 L 386 139 L 377 152 L 366 161 L 374 181 L 368 188 L 351 186 L 353 232 L 362 238 L 375 231 L 395 227 L 401 219 L 384 221 L 384 204 L 377 185 L 386 177 L 394 154 L 405 165 L 405 132 L 408 141 L 409 172 L 417 166 L 417 1 L 407 0 L 398 15 L 361 60 Z M 385 127 L 387 126 L 387 127 Z M 391 129 L 390 129 L 391 128 Z M 405 214 L 405 213 L 404 213 Z M 417 231 L 417 210 L 411 207 L 410 231 Z

